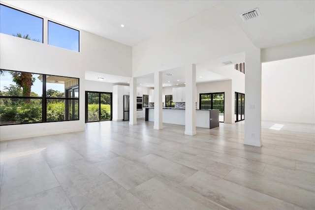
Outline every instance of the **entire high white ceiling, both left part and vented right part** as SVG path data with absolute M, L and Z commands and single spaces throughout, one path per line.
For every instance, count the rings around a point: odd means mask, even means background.
M 133 46 L 221 3 L 258 48 L 315 36 L 314 0 L 1 0 L 17 8 Z M 239 14 L 258 8 L 243 22 Z M 121 24 L 125 27 L 122 28 Z M 220 17 L 218 17 L 220 25 Z M 228 27 L 228 26 L 226 26 Z

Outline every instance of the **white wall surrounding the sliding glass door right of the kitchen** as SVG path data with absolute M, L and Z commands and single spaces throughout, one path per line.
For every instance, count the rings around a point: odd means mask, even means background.
M 211 92 L 224 92 L 224 122 L 234 122 L 234 100 L 232 100 L 232 81 L 225 80 L 197 84 L 197 109 L 199 109 L 199 94 Z M 233 102 L 233 104 L 232 104 Z

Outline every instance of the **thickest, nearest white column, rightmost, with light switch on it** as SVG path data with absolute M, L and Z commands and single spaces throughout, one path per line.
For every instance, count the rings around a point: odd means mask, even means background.
M 261 147 L 261 60 L 260 49 L 246 52 L 244 144 Z

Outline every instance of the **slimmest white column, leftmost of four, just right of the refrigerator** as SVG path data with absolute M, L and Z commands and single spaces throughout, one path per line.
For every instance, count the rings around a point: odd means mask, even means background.
M 129 125 L 137 124 L 137 79 L 132 77 L 129 83 Z

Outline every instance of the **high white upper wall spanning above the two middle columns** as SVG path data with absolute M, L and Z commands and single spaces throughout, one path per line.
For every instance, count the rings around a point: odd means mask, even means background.
M 220 21 L 218 21 L 220 16 Z M 221 4 L 132 47 L 134 77 L 253 48 Z

